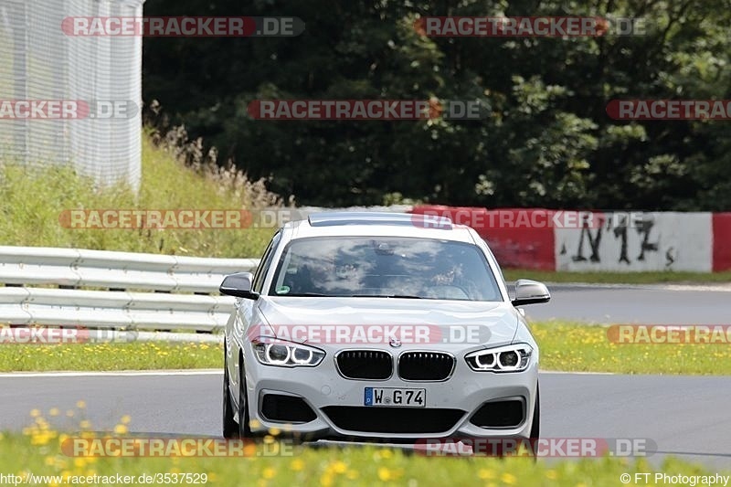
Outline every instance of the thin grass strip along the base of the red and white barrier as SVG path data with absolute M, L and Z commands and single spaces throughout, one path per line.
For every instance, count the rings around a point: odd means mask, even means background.
M 506 281 L 532 279 L 544 282 L 586 282 L 591 284 L 662 284 L 710 282 L 731 283 L 731 272 L 554 272 L 548 270 L 503 270 Z

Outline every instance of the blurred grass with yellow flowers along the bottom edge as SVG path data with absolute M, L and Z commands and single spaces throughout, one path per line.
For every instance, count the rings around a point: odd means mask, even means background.
M 51 411 L 56 415 L 57 411 Z M 75 411 L 69 411 L 72 415 Z M 117 474 L 174 475 L 195 474 L 198 484 L 208 485 L 551 485 L 612 486 L 621 485 L 621 476 L 635 473 L 672 472 L 673 475 L 715 475 L 703 466 L 669 459 L 652 465 L 646 459 L 617 457 L 562 461 L 532 461 L 528 458 L 497 460 L 491 458 L 439 458 L 377 447 L 313 449 L 294 447 L 286 454 L 272 448 L 249 449 L 248 458 L 209 457 L 68 457 L 61 444 L 69 437 L 49 426 L 39 411 L 32 412 L 35 423 L 24 434 L 0 433 L 0 472 L 27 478 L 29 475 L 60 475 L 63 479 L 45 479 L 43 484 L 70 483 L 71 476 L 91 477 Z M 78 416 L 78 415 L 77 415 Z M 124 438 L 130 418 L 122 418 L 111 437 Z M 90 424 L 86 420 L 81 423 Z M 85 436 L 86 435 L 86 436 Z M 93 438 L 82 431 L 81 438 Z M 75 435 L 76 436 L 76 435 Z M 272 439 L 272 438 L 270 438 Z M 265 439 L 266 440 L 266 439 Z M 270 443 L 271 444 L 271 443 Z M 283 451 L 283 450 L 281 450 Z M 204 477 L 205 476 L 205 477 Z M 164 478 L 164 477 L 163 477 Z M 206 482 L 201 482 L 205 478 Z M 644 479 L 644 477 L 641 477 Z M 37 477 L 36 477 L 37 480 Z M 162 479 L 161 479 L 162 480 Z M 98 482 L 91 482 L 97 483 Z M 192 484 L 182 482 L 185 484 Z M 164 482 L 154 482 L 154 485 Z

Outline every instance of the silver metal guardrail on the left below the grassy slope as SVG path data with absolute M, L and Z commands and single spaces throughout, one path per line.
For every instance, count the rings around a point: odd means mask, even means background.
M 210 294 L 217 294 L 226 275 L 258 264 L 259 259 L 0 247 L 5 284 L 0 323 L 217 332 L 235 300 Z

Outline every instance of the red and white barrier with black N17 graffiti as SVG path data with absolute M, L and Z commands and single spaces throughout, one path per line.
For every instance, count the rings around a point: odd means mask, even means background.
M 505 268 L 571 271 L 731 270 L 731 213 L 578 212 L 414 206 L 487 240 Z M 593 225 L 577 215 L 592 213 Z M 556 219 L 554 219 L 556 217 Z M 622 225 L 624 221 L 630 222 Z M 535 223 L 538 223 L 537 225 Z M 603 222 L 603 223 L 597 223 Z

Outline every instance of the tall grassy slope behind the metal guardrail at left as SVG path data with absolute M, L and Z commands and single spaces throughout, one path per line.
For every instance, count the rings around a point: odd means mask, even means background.
M 273 228 L 64 228 L 70 209 L 252 209 L 281 202 L 245 175 L 190 167 L 143 137 L 139 194 L 116 185 L 97 189 L 69 166 L 28 168 L 0 160 L 0 235 L 5 245 L 122 250 L 200 257 L 260 256 Z

